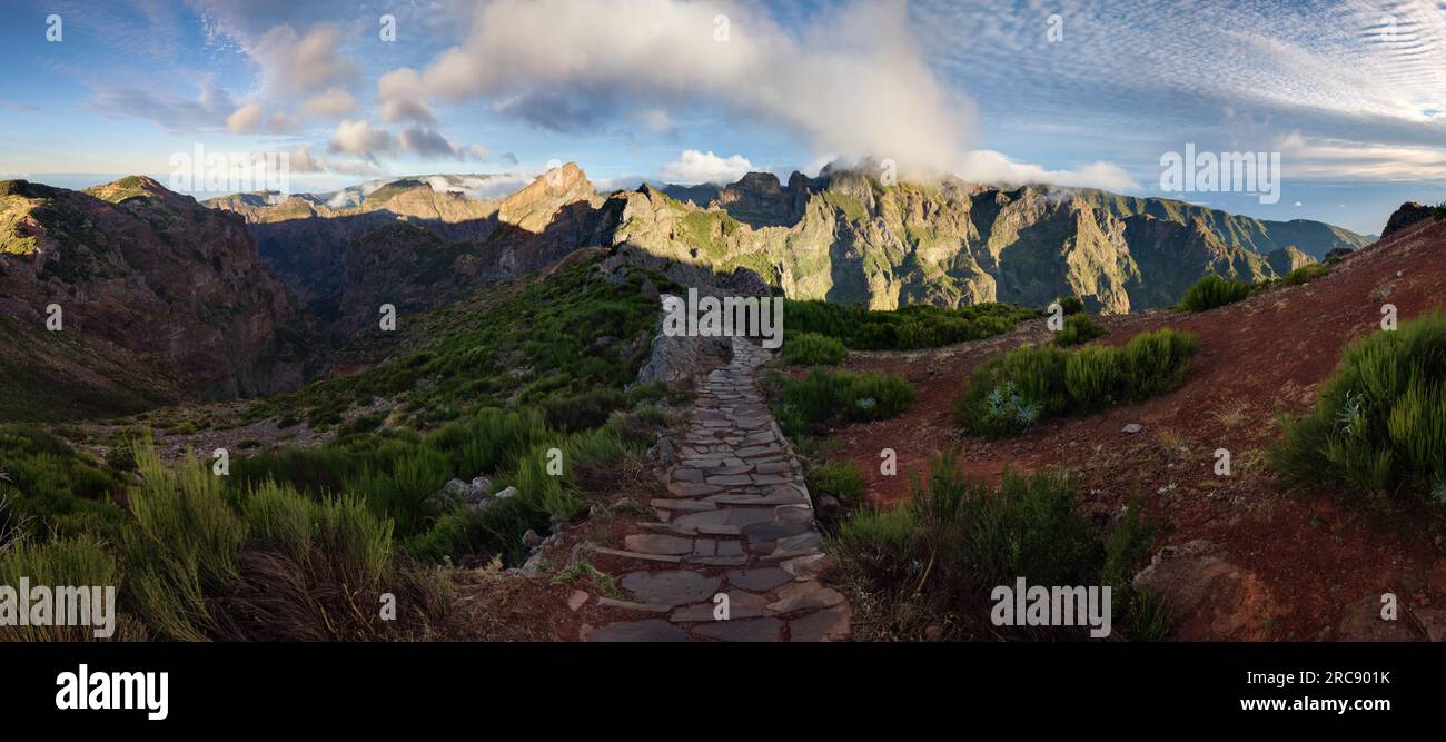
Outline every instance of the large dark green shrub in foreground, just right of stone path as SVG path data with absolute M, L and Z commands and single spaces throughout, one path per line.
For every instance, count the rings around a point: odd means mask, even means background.
M 830 553 L 846 581 L 859 586 L 902 638 L 925 626 L 950 638 L 1054 638 L 1053 629 L 999 629 L 989 621 L 995 586 L 1024 577 L 1038 586 L 1109 586 L 1113 628 L 1137 626 L 1158 638 L 1168 615 L 1152 596 L 1135 593 L 1132 574 L 1148 555 L 1148 528 L 1126 516 L 1102 538 L 1074 500 L 1064 473 L 1019 474 L 1006 469 L 1001 486 L 967 477 L 954 456 L 937 456 L 912 498 L 891 509 L 865 509 L 840 524 Z M 1137 613 L 1139 618 L 1137 619 Z M 1070 634 L 1077 636 L 1079 634 Z

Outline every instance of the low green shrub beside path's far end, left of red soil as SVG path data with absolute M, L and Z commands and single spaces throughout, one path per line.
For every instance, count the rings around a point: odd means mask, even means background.
M 804 379 L 772 375 L 768 385 L 779 427 L 788 435 L 892 418 L 914 404 L 914 388 L 889 373 L 813 370 Z

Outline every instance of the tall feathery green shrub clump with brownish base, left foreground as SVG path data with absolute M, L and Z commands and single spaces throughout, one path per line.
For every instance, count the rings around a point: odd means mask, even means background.
M 392 521 L 359 498 L 314 499 L 265 482 L 233 505 L 210 467 L 168 467 L 137 443 L 142 483 L 120 544 L 126 605 L 161 639 L 333 641 L 393 635 L 398 616 L 434 616 L 444 592 L 393 563 Z

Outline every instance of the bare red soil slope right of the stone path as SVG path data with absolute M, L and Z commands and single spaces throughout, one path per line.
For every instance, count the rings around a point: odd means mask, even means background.
M 918 401 L 899 418 L 837 431 L 837 456 L 863 467 L 875 502 L 908 498 L 907 469 L 924 470 L 943 450 L 960 451 L 967 472 L 993 482 L 1006 466 L 1074 470 L 1086 511 L 1102 519 L 1145 498 L 1155 550 L 1206 540 L 1219 557 L 1199 568 L 1202 580 L 1223 587 L 1206 589 L 1213 594 L 1177 616 L 1184 639 L 1382 638 L 1384 622 L 1372 619 L 1388 592 L 1403 606 L 1401 628 L 1392 631 L 1407 634 L 1385 636 L 1440 638 L 1443 515 L 1424 503 L 1368 503 L 1351 492 L 1287 493 L 1261 451 L 1280 434 L 1275 412 L 1310 408 L 1342 349 L 1379 328 L 1382 304 L 1394 304 L 1407 321 L 1446 305 L 1443 297 L 1446 223 L 1424 223 L 1358 250 L 1303 286 L 1206 312 L 1100 317 L 1109 334 L 1099 343 L 1124 344 L 1161 327 L 1199 336 L 1202 350 L 1184 386 L 1098 415 L 1048 421 L 1004 441 L 963 434 L 951 402 L 979 363 L 1047 340 L 1044 320 L 951 347 L 853 353 L 846 369 L 897 373 L 914 383 Z M 1122 432 L 1131 422 L 1144 431 Z M 897 476 L 879 474 L 882 448 L 898 453 Z M 1231 451 L 1233 476 L 1215 474 L 1218 448 Z

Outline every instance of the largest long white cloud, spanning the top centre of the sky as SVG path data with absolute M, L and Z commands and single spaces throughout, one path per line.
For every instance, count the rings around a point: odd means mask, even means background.
M 727 40 L 714 39 L 719 13 Z M 486 98 L 555 130 L 626 110 L 720 106 L 792 130 L 816 152 L 904 169 L 951 168 L 975 119 L 936 80 L 902 3 L 859 3 L 792 33 L 729 0 L 496 0 L 479 6 L 464 45 L 379 88 L 388 121 L 425 123 L 434 98 Z

